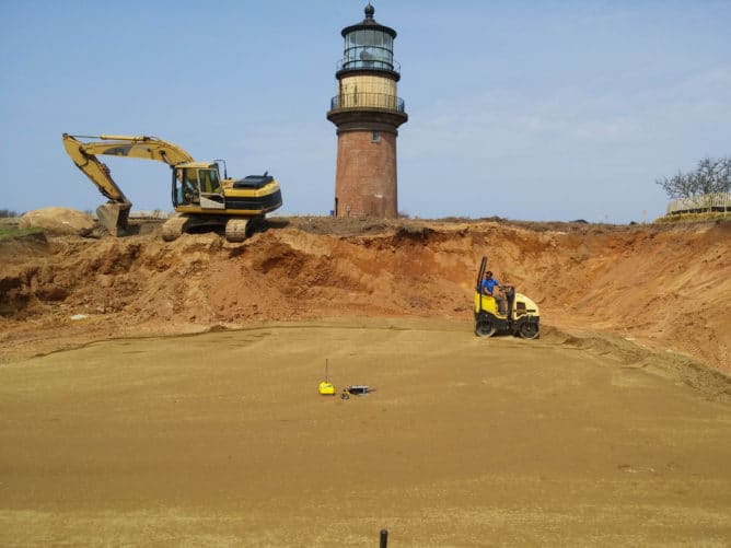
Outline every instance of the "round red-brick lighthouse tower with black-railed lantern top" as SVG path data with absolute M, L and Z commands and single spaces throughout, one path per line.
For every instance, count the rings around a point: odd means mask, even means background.
M 408 116 L 398 97 L 399 67 L 393 59 L 396 31 L 373 19 L 346 26 L 338 61 L 337 95 L 327 119 L 337 126 L 335 217 L 398 217 L 396 136 Z

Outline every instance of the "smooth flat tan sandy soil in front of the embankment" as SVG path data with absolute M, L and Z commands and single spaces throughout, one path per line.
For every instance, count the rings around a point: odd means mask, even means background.
M 340 318 L 0 368 L 3 546 L 731 541 L 731 404 L 549 330 Z M 327 359 L 341 388 L 324 397 Z

